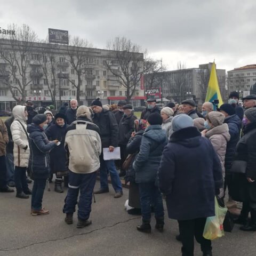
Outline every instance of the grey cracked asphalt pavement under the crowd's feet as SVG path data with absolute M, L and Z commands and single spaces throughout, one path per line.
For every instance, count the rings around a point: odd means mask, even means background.
M 67 191 L 55 193 L 53 184 L 51 190 L 45 191 L 43 199 L 50 214 L 37 217 L 30 215 L 30 199 L 16 198 L 14 193 L 0 193 L 0 256 L 181 255 L 181 244 L 175 240 L 176 221 L 166 217 L 165 231 L 159 233 L 154 229 L 152 218 L 151 234 L 137 231 L 140 217 L 129 215 L 124 209 L 128 189 L 124 188 L 124 196 L 117 199 L 113 198 L 112 188 L 108 194 L 95 195 L 92 225 L 83 229 L 76 228 L 76 214 L 73 225 L 64 222 L 62 207 Z M 256 232 L 245 233 L 238 228 L 235 226 L 232 233 L 213 241 L 213 255 L 256 255 Z M 196 255 L 202 253 L 195 242 Z

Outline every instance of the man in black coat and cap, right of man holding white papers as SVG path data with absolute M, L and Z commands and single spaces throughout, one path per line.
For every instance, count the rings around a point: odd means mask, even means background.
M 121 161 L 120 161 L 120 173 L 119 177 L 125 176 L 126 171 L 123 170 L 123 163 L 127 157 L 126 145 L 128 140 L 131 138 L 131 134 L 134 131 L 134 120 L 137 116 L 133 114 L 132 105 L 123 106 L 124 115 L 119 123 L 119 147 L 121 151 Z

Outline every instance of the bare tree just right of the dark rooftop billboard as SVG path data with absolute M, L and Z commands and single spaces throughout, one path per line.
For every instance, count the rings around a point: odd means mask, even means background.
M 70 40 L 70 45 L 68 46 L 68 58 L 66 59 L 71 68 L 74 69 L 74 73 L 77 76 L 77 82 L 68 78 L 68 81 L 76 87 L 76 99 L 78 103 L 80 102 L 81 96 L 81 85 L 82 85 L 82 76 L 85 75 L 89 79 L 93 79 L 91 75 L 93 64 L 93 59 L 90 58 L 89 47 L 93 47 L 87 40 L 84 40 L 79 37 L 73 37 Z

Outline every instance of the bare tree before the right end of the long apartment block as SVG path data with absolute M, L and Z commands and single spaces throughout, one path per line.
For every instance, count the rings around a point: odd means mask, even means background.
M 118 83 L 125 87 L 126 101 L 130 102 L 138 89 L 141 75 L 146 73 L 150 62 L 143 59 L 141 47 L 125 37 L 116 37 L 109 41 L 107 49 L 109 56 L 105 65 L 110 74 L 118 79 Z

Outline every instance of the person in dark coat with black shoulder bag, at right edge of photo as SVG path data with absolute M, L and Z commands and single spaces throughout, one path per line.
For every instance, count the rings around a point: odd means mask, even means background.
M 243 208 L 236 223 L 243 224 L 243 231 L 256 231 L 256 108 L 244 112 L 244 135 L 239 140 L 234 161 L 245 161 L 245 173 L 233 173 L 230 194 L 236 201 L 243 202 Z M 251 221 L 248 220 L 249 212 Z

